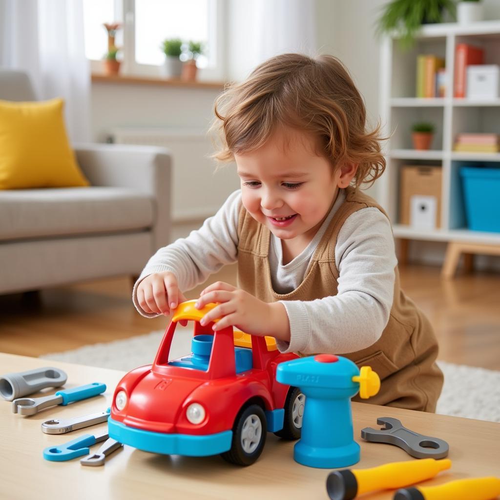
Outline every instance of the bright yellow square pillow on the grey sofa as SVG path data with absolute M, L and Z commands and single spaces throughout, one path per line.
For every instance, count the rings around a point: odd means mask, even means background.
M 62 99 L 0 100 L 0 189 L 86 186 L 64 127 Z

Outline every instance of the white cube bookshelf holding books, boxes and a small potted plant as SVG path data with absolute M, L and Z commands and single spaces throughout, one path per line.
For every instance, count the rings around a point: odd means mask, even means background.
M 388 36 L 382 40 L 380 115 L 384 133 L 392 133 L 392 136 L 385 145 L 386 171 L 377 184 L 381 204 L 393 223 L 396 238 L 500 244 L 500 233 L 478 232 L 466 228 L 459 168 L 484 161 L 500 165 L 500 153 L 455 152 L 452 149 L 454 139 L 459 132 L 500 133 L 500 98 L 487 101 L 453 98 L 455 46 L 463 42 L 481 46 L 486 64 L 500 64 L 498 20 L 466 26 L 457 23 L 422 26 L 414 47 L 406 51 L 400 49 L 396 37 Z M 416 57 L 423 53 L 445 58 L 445 97 L 414 97 Z M 431 149 L 427 151 L 412 148 L 411 125 L 416 121 L 431 121 L 436 126 Z M 441 165 L 439 229 L 421 230 L 399 223 L 399 178 L 401 167 L 405 164 Z

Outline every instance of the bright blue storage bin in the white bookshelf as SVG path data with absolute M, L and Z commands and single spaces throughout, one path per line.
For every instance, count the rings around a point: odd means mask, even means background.
M 500 168 L 460 168 L 467 226 L 474 231 L 500 232 Z

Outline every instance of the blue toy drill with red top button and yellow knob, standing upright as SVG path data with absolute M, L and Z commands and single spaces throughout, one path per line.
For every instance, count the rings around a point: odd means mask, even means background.
M 318 468 L 347 467 L 359 461 L 350 398 L 378 392 L 380 379 L 369 366 L 361 371 L 350 359 L 318 354 L 280 363 L 276 380 L 298 387 L 306 401 L 300 440 L 293 448 L 298 463 Z

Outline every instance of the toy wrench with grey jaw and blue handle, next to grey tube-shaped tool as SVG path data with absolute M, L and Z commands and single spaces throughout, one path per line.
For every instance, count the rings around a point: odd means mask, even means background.
M 58 390 L 55 394 L 45 397 L 18 397 L 12 401 L 12 411 L 21 415 L 34 415 L 38 410 L 60 404 L 65 406 L 72 401 L 96 396 L 106 390 L 106 384 L 100 382 L 88 383 L 72 389 Z

